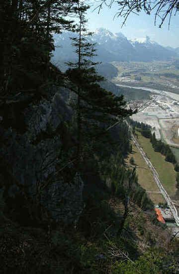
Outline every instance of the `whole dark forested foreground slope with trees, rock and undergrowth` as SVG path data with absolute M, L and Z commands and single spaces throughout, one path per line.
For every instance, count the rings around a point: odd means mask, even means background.
M 87 10 L 0 2 L 0 272 L 175 273 L 176 240 L 124 163 L 133 111 L 98 84 L 87 58 Z M 50 61 L 63 28 L 78 34 L 79 62 L 65 73 Z

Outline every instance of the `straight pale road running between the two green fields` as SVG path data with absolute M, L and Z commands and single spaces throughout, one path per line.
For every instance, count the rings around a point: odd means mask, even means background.
M 128 123 L 127 123 L 128 124 Z M 151 169 L 152 171 L 152 174 L 154 176 L 154 180 L 160 190 L 160 192 L 162 193 L 164 199 L 166 200 L 173 216 L 174 216 L 174 219 L 176 221 L 176 224 L 179 226 L 179 216 L 178 216 L 178 212 L 177 212 L 177 209 L 174 205 L 175 202 L 173 202 L 170 198 L 170 196 L 168 195 L 167 191 L 164 189 L 162 183 L 160 182 L 160 179 L 159 179 L 159 175 L 156 171 L 156 169 L 154 168 L 154 166 L 152 165 L 151 161 L 148 159 L 147 155 L 145 154 L 145 152 L 143 151 L 143 149 L 140 147 L 136 137 L 134 136 L 134 134 L 132 133 L 132 128 L 131 126 L 128 124 L 129 128 L 130 128 L 130 131 L 131 131 L 131 137 L 132 137 L 132 140 L 134 142 L 134 144 L 136 145 L 136 147 L 138 148 L 138 150 L 140 151 L 142 157 L 144 158 L 145 162 L 147 163 L 148 167 Z

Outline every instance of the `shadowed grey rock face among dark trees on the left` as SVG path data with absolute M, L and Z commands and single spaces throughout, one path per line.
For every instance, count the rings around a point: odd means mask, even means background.
M 61 127 L 72 119 L 68 100 L 69 91 L 61 88 L 50 99 L 29 104 L 23 133 L 0 123 L 0 188 L 5 186 L 8 199 L 25 197 L 33 204 L 38 196 L 53 221 L 75 225 L 83 210 L 83 181 L 78 174 L 68 182 L 56 176 L 64 165 Z

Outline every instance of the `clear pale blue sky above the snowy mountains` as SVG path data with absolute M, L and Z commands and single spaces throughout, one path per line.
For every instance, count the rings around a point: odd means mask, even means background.
M 123 18 L 113 18 L 118 5 L 116 3 L 109 9 L 103 6 L 99 14 L 94 10 L 99 4 L 99 1 L 93 1 L 91 8 L 88 11 L 88 27 L 95 30 L 99 27 L 104 27 L 111 32 L 122 32 L 128 39 L 142 38 L 146 35 L 151 40 L 158 42 L 164 46 L 179 47 L 179 12 L 171 18 L 170 29 L 168 21 L 164 23 L 162 28 L 154 25 L 154 15 L 148 15 L 141 12 L 139 15 L 131 14 L 126 24 L 121 28 Z

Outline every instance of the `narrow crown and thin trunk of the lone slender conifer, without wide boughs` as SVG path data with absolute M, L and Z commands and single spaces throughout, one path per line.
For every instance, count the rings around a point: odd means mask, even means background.
M 76 32 L 78 34 L 77 37 L 71 38 L 73 40 L 73 45 L 76 47 L 77 53 L 77 62 L 69 62 L 69 66 L 73 69 L 69 69 L 67 74 L 72 80 L 73 83 L 77 86 L 77 126 L 78 126 L 78 148 L 77 148 L 77 155 L 80 156 L 81 147 L 82 147 L 82 100 L 84 99 L 84 92 L 82 87 L 82 81 L 89 81 L 89 76 L 92 73 L 92 69 L 89 69 L 90 66 L 94 66 L 97 63 L 91 61 L 91 57 L 95 55 L 94 44 L 91 44 L 85 36 L 91 35 L 87 31 L 85 24 L 87 23 L 86 20 L 86 11 L 89 9 L 89 5 L 85 5 L 83 1 L 78 1 L 76 7 L 74 7 L 74 11 L 77 14 L 79 19 L 78 26 L 76 28 Z M 94 72 L 94 71 L 93 71 Z M 100 77 L 99 77 L 100 78 Z M 103 79 L 101 77 L 101 79 Z M 83 108 L 84 108 L 83 103 Z

